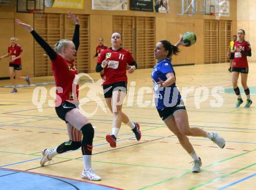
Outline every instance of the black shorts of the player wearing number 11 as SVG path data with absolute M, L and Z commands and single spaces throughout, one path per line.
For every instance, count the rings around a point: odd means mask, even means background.
M 111 98 L 113 91 L 123 91 L 127 92 L 127 82 L 117 82 L 113 84 L 104 84 L 103 85 L 104 90 L 104 97 L 105 98 Z

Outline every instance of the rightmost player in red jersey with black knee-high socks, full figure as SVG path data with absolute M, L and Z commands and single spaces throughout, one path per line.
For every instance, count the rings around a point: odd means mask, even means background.
M 237 86 L 237 80 L 239 78 L 239 73 L 241 73 L 241 83 L 244 88 L 244 92 L 247 97 L 246 105 L 244 107 L 250 107 L 251 101 L 250 98 L 250 89 L 247 86 L 247 77 L 248 77 L 248 61 L 247 56 L 251 56 L 251 45 L 248 41 L 244 40 L 244 35 L 246 32 L 243 29 L 237 31 L 238 41 L 234 42 L 234 60 L 232 63 L 232 83 L 234 92 L 237 95 L 236 107 L 239 107 L 243 103 L 241 98 L 240 89 Z

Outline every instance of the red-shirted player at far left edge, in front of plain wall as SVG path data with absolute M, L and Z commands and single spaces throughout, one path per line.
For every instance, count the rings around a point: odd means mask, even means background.
M 6 55 L 3 55 L 0 57 L 0 60 L 2 58 L 8 58 L 10 57 L 10 63 L 9 63 L 9 76 L 10 76 L 10 83 L 12 83 L 13 89 L 10 92 L 17 92 L 16 89 L 16 81 L 15 78 L 18 80 L 25 80 L 28 85 L 30 85 L 30 77 L 21 76 L 22 73 L 22 46 L 17 44 L 17 38 L 12 37 L 10 38 L 10 46 L 8 47 L 8 53 Z M 14 78 L 15 76 L 15 78 Z

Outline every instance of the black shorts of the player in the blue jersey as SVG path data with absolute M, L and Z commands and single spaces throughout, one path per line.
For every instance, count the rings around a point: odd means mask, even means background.
M 157 110 L 159 113 L 159 116 L 163 121 L 168 120 L 175 112 L 177 111 L 186 111 L 186 107 L 184 105 L 184 102 L 181 100 L 179 103 L 176 104 L 174 107 L 165 107 L 161 110 Z

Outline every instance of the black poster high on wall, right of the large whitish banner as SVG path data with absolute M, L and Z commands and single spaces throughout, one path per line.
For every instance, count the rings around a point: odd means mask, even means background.
M 154 0 L 130 0 L 130 10 L 154 12 L 153 1 Z

